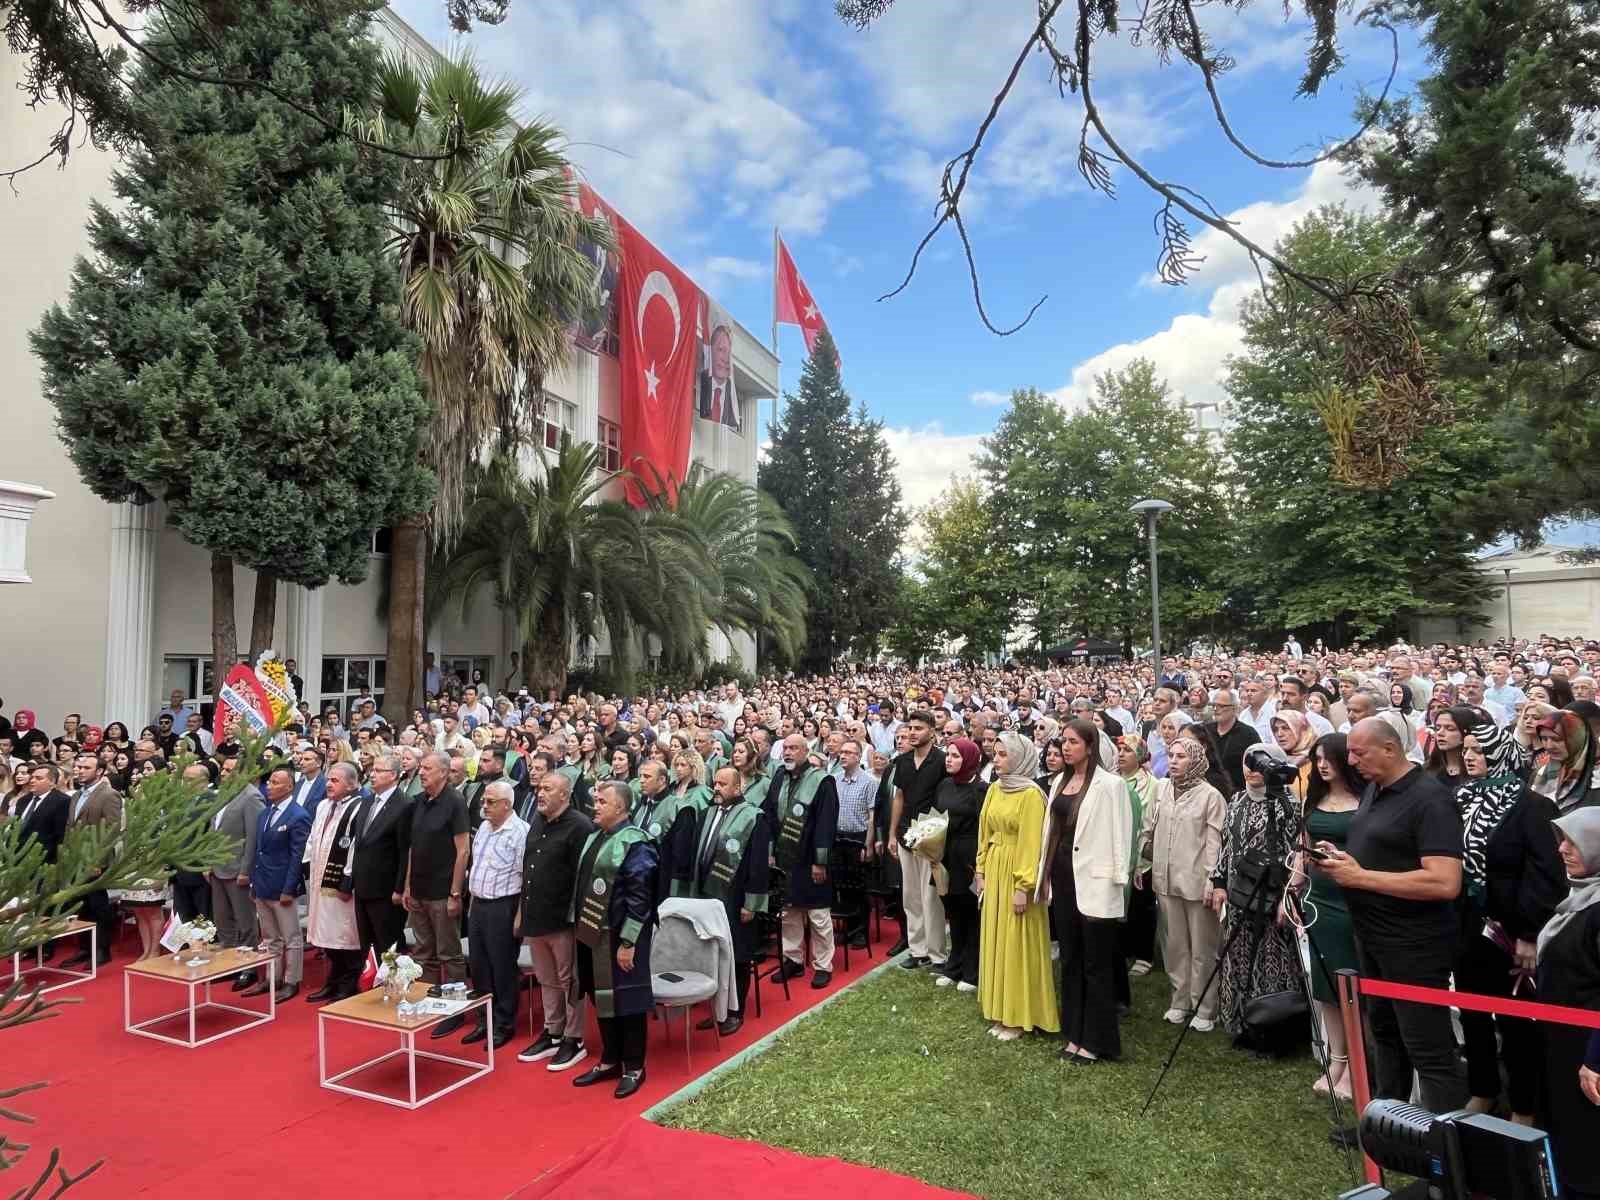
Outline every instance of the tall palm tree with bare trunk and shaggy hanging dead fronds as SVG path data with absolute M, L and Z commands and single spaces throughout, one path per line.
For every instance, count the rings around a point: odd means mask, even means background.
M 597 302 L 582 243 L 613 248 L 578 211 L 562 133 L 518 125 L 522 91 L 485 80 L 469 56 L 418 67 L 386 61 L 362 134 L 402 150 L 390 248 L 402 314 L 421 338 L 434 402 L 424 461 L 438 477 L 429 514 L 394 530 L 389 560 L 390 720 L 421 701 L 429 541 L 448 550 L 467 517 L 467 478 L 491 450 L 542 435 L 547 374 L 571 354 L 570 323 Z

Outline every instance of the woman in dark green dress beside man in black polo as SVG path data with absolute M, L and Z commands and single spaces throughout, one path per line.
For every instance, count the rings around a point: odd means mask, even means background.
M 1342 733 L 1325 733 L 1310 750 L 1312 774 L 1306 787 L 1306 842 L 1317 845 L 1330 842 L 1344 850 L 1350 834 L 1350 819 L 1362 802 L 1366 786 L 1350 766 Z M 1304 856 L 1296 861 L 1299 878 L 1304 878 Z M 1306 893 L 1306 922 L 1310 926 L 1310 992 L 1322 1010 L 1322 1029 L 1326 1038 L 1328 1062 L 1317 1075 L 1312 1090 L 1326 1094 L 1330 1085 L 1339 1099 L 1350 1099 L 1350 1053 L 1344 1042 L 1344 1016 L 1339 1013 L 1339 994 L 1334 979 L 1344 968 L 1357 970 L 1355 928 L 1350 925 L 1350 907 L 1344 888 L 1318 870 L 1310 872 L 1310 890 Z

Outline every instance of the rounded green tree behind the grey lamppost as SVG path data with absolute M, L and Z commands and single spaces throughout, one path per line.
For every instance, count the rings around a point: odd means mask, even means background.
M 1142 523 L 1128 512 L 1155 496 L 1162 517 L 1162 621 L 1184 638 L 1210 627 L 1229 536 L 1211 443 L 1147 360 L 1094 381 L 1083 411 L 1032 389 L 984 443 L 997 595 L 1037 646 L 1104 635 L 1131 643 L 1149 627 Z

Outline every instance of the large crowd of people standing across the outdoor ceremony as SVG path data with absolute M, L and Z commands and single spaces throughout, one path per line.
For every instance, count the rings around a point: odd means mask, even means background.
M 398 726 L 371 698 L 304 709 L 259 789 L 218 818 L 234 861 L 86 915 L 104 952 L 130 909 L 149 954 L 163 906 L 210 912 L 224 944 L 282 954 L 280 998 L 309 941 L 328 958 L 312 1000 L 352 994 L 366 952 L 410 931 L 424 978 L 470 973 L 493 994 L 496 1042 L 525 942 L 544 1032 L 518 1058 L 584 1062 L 594 1005 L 598 1061 L 576 1082 L 630 1094 L 662 904 L 726 910 L 723 1035 L 760 963 L 826 987 L 835 936 L 862 946 L 880 906 L 902 968 L 971 995 L 1002 1042 L 1059 1035 L 1072 1066 L 1122 1054 L 1130 978 L 1157 963 L 1166 1021 L 1246 1048 L 1309 994 L 1312 1086 L 1349 1098 L 1363 1048 L 1346 1045 L 1339 970 L 1600 1003 L 1597 674 L 1600 643 L 1563 638 L 1291 638 L 1160 669 L 869 666 L 565 701 L 430 672 Z M 117 821 L 150 774 L 182 763 L 214 784 L 230 752 L 182 694 L 138 739 L 77 714 L 50 736 L 24 709 L 0 717 L 0 816 L 54 853 L 70 824 Z M 1458 1037 L 1448 1008 L 1368 1000 L 1366 1032 L 1374 1094 L 1538 1122 L 1568 1186 L 1600 1194 L 1584 1136 L 1600 1045 L 1581 1030 L 1462 1013 Z

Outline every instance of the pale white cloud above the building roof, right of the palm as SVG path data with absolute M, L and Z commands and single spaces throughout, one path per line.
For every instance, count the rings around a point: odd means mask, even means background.
M 395 0 L 445 40 L 438 0 Z M 774 219 L 816 234 L 869 182 L 859 150 L 824 125 L 832 72 L 795 64 L 794 3 L 747 0 L 538 0 L 512 5 L 469 45 L 528 91 L 528 112 L 571 139 L 571 158 L 651 238 L 706 224 Z

